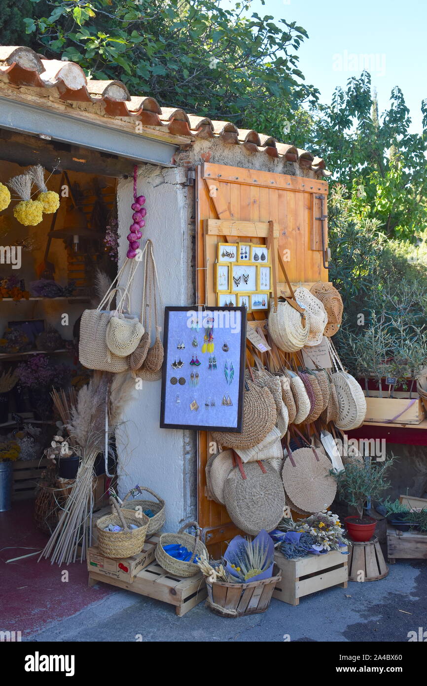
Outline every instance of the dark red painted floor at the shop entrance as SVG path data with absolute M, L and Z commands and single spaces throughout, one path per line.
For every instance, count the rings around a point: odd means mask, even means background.
M 41 549 L 47 536 L 34 525 L 34 501 L 21 500 L 0 512 L 0 630 L 21 631 L 24 637 L 65 619 L 111 593 L 88 588 L 86 562 L 51 565 L 38 556 L 6 564 L 10 558 Z M 30 549 L 25 549 L 28 547 Z M 68 582 L 62 571 L 69 572 Z

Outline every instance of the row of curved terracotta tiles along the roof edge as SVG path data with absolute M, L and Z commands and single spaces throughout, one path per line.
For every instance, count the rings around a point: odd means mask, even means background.
M 160 107 L 154 97 L 130 95 L 121 81 L 88 79 L 75 62 L 47 60 L 29 47 L 0 46 L 0 82 L 34 86 L 40 89 L 38 95 L 43 94 L 43 89 L 56 88 L 63 102 L 79 102 L 89 114 L 93 111 L 107 117 L 132 117 L 148 128 L 167 130 L 171 135 L 190 140 L 219 138 L 223 143 L 242 145 L 249 152 L 280 156 L 286 161 L 299 163 L 303 168 L 330 176 L 324 160 L 306 150 L 279 143 L 272 136 L 254 130 L 239 129 L 230 121 L 187 114 L 181 108 Z

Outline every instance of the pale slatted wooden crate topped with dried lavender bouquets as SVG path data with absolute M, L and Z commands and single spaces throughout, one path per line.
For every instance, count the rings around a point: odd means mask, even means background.
M 343 552 L 347 547 L 343 548 Z M 331 586 L 347 588 L 347 556 L 338 550 L 325 555 L 287 560 L 280 552 L 274 554 L 274 561 L 282 570 L 282 580 L 273 591 L 273 598 L 298 605 L 300 598 Z

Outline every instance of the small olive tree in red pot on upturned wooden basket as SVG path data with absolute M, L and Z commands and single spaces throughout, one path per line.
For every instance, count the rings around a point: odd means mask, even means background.
M 378 499 L 380 494 L 389 488 L 386 480 L 393 458 L 385 462 L 351 462 L 346 464 L 345 471 L 331 471 L 337 480 L 339 497 L 348 505 L 356 508 L 357 514 L 345 517 L 345 526 L 352 541 L 370 541 L 374 536 L 376 521 L 368 517 L 364 510 L 368 500 Z

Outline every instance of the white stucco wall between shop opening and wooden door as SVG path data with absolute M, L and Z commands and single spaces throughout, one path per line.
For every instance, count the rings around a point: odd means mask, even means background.
M 138 172 L 138 195 L 147 198 L 145 239 L 154 243 L 163 305 L 192 304 L 192 244 L 188 231 L 188 187 L 183 169 L 145 165 Z M 132 224 L 133 179 L 119 182 L 120 263 L 128 248 Z M 141 311 L 143 263 L 132 288 L 132 310 Z M 163 315 L 160 315 L 163 325 Z M 139 484 L 149 486 L 166 501 L 165 531 L 176 531 L 193 519 L 195 508 L 195 442 L 193 432 L 160 429 L 160 381 L 144 381 L 128 405 L 117 436 L 119 495 Z M 147 496 L 149 497 L 149 496 Z

